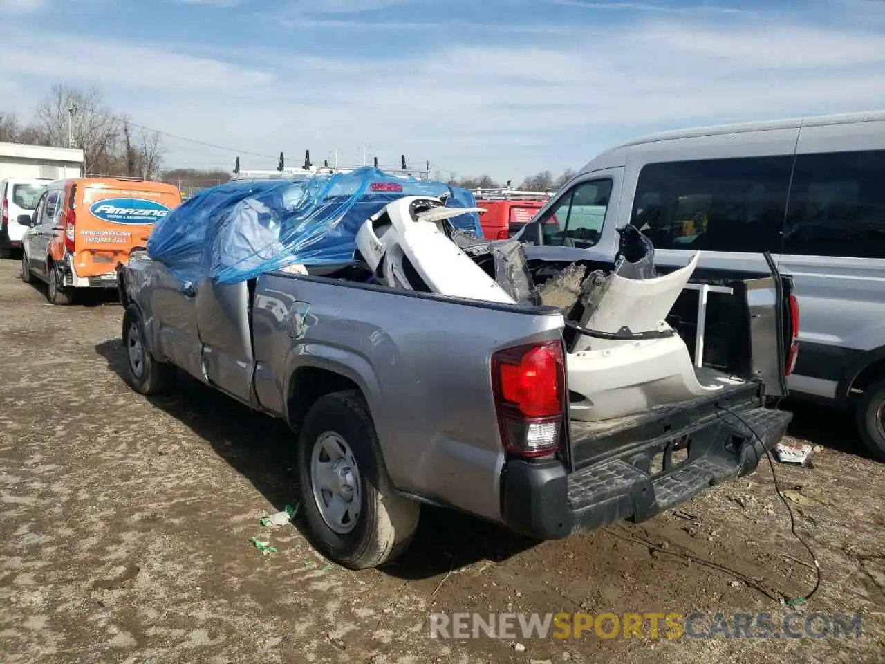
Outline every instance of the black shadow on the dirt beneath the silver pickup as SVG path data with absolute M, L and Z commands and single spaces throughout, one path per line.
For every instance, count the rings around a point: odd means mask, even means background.
M 96 345 L 108 367 L 125 381 L 126 351 L 119 340 Z M 187 374 L 179 373 L 173 394 L 147 397 L 152 405 L 186 424 L 279 510 L 298 497 L 296 442 L 282 421 L 260 413 Z M 310 537 L 304 521 L 296 527 Z M 404 555 L 385 574 L 422 579 L 481 560 L 500 562 L 537 544 L 494 523 L 454 510 L 423 506 L 418 532 Z

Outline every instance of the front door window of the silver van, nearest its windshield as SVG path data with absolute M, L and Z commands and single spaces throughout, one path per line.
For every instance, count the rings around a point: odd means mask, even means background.
M 592 247 L 598 243 L 611 196 L 611 178 L 574 185 L 557 205 L 538 219 L 544 243 L 574 247 Z

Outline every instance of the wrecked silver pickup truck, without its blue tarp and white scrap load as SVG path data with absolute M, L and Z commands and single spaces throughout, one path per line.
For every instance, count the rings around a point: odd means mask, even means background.
M 500 246 L 482 245 L 478 262 Z M 193 284 L 137 252 L 119 266 L 128 381 L 158 393 L 179 367 L 288 421 L 315 544 L 355 569 L 402 552 L 422 504 L 568 537 L 750 473 L 781 439 L 791 414 L 767 406 L 786 394 L 798 330 L 773 262 L 771 274 L 696 270 L 667 316 L 697 379 L 720 390 L 594 420 L 570 415 L 587 407 L 569 385 L 576 344 L 634 333 L 582 329 L 577 290 L 564 302 L 549 284 L 577 272 L 580 290 L 623 256 L 519 246 L 542 295 L 515 304 L 391 288 L 359 256 Z

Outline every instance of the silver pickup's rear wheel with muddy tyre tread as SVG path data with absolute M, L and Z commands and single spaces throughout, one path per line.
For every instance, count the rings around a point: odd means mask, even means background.
M 304 513 L 321 552 L 350 569 L 378 567 L 404 552 L 420 505 L 393 489 L 357 390 L 319 398 L 298 452 Z

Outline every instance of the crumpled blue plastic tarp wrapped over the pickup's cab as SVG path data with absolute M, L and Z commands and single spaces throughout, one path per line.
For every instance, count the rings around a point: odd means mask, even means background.
M 324 266 L 353 259 L 359 228 L 404 196 L 450 198 L 475 207 L 466 189 L 385 174 L 366 166 L 346 174 L 238 180 L 204 189 L 154 226 L 148 255 L 182 281 L 242 282 L 293 263 Z M 482 236 L 476 212 L 452 220 Z

